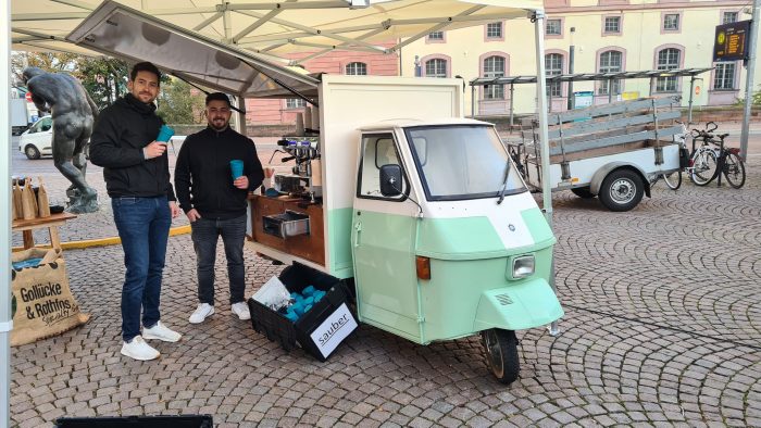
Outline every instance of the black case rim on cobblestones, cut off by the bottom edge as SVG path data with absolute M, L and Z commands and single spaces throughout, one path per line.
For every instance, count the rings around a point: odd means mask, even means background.
M 55 428 L 213 428 L 211 415 L 60 417 Z

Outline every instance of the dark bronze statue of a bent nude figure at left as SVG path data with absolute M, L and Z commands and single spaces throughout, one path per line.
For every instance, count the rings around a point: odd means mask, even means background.
M 71 213 L 98 211 L 98 192 L 87 185 L 87 146 L 98 108 L 79 80 L 38 67 L 24 70 L 24 83 L 37 109 L 53 118 L 53 164 L 72 186 L 66 189 Z

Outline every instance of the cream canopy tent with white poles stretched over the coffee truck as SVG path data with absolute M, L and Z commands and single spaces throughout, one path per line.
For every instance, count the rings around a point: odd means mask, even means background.
M 4 28 L 11 40 L 3 43 L 0 58 L 9 70 L 11 47 L 108 54 L 151 61 L 188 81 L 240 98 L 297 96 L 315 101 L 317 78 L 296 67 L 304 61 L 334 50 L 394 53 L 432 32 L 510 18 L 535 23 L 536 70 L 544 76 L 541 0 L 11 0 L 0 12 L 0 20 L 10 23 Z M 388 42 L 394 45 L 389 48 Z M 289 59 L 296 52 L 310 53 L 298 61 Z M 547 153 L 545 79 L 538 79 L 537 100 L 540 142 Z M 9 117 L 8 103 L 0 114 Z M 9 151 L 0 161 L 5 177 L 10 177 L 9 123 L 0 125 Z M 549 156 L 541 160 L 544 207 L 551 225 Z M 4 225 L 0 239 L 11 242 L 10 186 L 0 192 L 7 201 L 0 211 Z M 0 251 L 1 263 L 10 266 L 10 246 Z M 10 272 L 0 277 L 0 414 L 8 418 L 10 281 Z M 0 419 L 0 425 L 4 423 Z

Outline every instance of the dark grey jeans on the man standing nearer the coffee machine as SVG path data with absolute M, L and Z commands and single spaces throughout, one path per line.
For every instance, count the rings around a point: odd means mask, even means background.
M 222 236 L 227 257 L 229 303 L 244 301 L 246 279 L 244 269 L 244 239 L 246 215 L 230 219 L 199 218 L 190 224 L 192 244 L 198 260 L 198 301 L 214 304 L 214 262 L 216 241 Z

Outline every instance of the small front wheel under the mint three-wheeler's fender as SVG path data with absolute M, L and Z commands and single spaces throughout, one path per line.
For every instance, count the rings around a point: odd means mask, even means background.
M 486 364 L 491 374 L 502 383 L 512 383 L 517 379 L 521 368 L 515 331 L 491 328 L 482 331 L 481 337 L 486 352 Z

